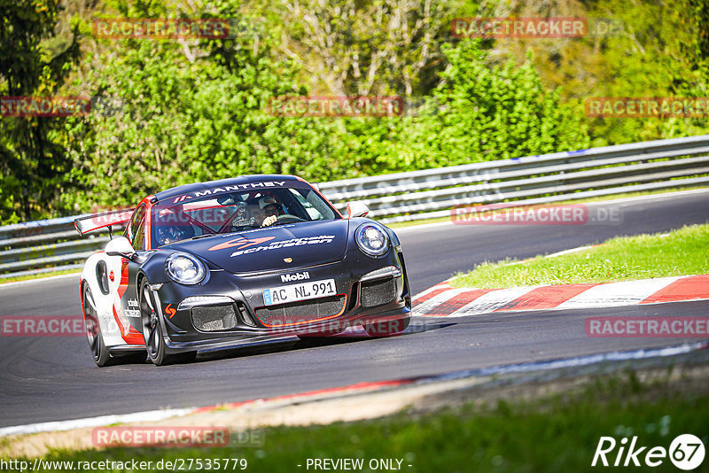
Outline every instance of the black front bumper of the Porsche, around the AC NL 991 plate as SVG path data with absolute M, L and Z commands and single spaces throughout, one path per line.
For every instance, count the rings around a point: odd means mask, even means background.
M 333 279 L 336 295 L 266 306 L 265 289 L 281 275 L 308 272 L 308 281 Z M 408 319 L 409 281 L 401 249 L 383 257 L 347 254 L 343 260 L 249 275 L 212 270 L 198 285 L 164 283 L 153 290 L 170 353 L 251 345 L 294 335 L 331 335 L 368 323 Z

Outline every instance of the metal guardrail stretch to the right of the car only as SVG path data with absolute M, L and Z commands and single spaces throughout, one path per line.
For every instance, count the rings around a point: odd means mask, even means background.
M 339 209 L 357 199 L 384 223 L 445 217 L 456 205 L 525 205 L 709 183 L 709 135 L 323 182 Z M 670 181 L 672 180 L 672 181 Z

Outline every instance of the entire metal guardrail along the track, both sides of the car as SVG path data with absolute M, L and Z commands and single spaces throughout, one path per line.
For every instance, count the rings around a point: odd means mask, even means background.
M 705 175 L 707 174 L 707 175 Z M 342 212 L 350 200 L 384 223 L 447 217 L 457 205 L 524 205 L 709 185 L 709 135 L 619 144 L 318 184 Z M 0 278 L 81 268 L 107 232 L 80 238 L 74 217 L 0 227 Z

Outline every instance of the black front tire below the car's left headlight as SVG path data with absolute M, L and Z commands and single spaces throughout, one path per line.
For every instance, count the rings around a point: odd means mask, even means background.
M 155 366 L 171 365 L 174 363 L 189 363 L 197 357 L 197 352 L 169 353 L 168 345 L 165 344 L 165 337 L 160 321 L 160 312 L 154 307 L 152 293 L 147 280 L 140 284 L 140 318 L 143 322 L 143 339 L 148 358 Z

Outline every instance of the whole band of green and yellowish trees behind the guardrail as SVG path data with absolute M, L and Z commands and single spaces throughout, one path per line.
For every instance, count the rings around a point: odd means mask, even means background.
M 92 97 L 0 118 L 0 221 L 133 205 L 237 174 L 313 181 L 707 132 L 588 119 L 588 97 L 707 97 L 709 0 L 0 0 L 0 96 Z M 613 35 L 461 40 L 471 16 L 612 19 Z M 97 18 L 230 18 L 229 40 L 109 40 Z M 281 95 L 395 95 L 392 118 L 283 118 Z

